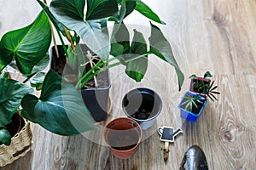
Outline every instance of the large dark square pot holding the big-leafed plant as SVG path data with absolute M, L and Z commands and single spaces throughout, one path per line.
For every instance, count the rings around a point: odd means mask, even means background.
M 84 44 L 80 44 L 84 53 L 86 53 L 89 48 Z M 50 68 L 57 72 L 59 75 L 64 77 L 68 82 L 72 82 L 74 85 L 77 82 L 78 69 L 73 69 L 69 65 L 67 65 L 67 59 L 64 52 L 64 49 L 61 45 L 57 46 L 59 50 L 60 57 L 57 58 L 55 47 L 51 48 L 51 62 Z M 90 68 L 85 68 L 89 70 Z M 108 101 L 109 101 L 109 88 L 110 85 L 110 77 L 109 72 L 102 71 L 97 76 L 97 81 L 100 84 L 99 88 L 92 88 L 91 84 L 94 84 L 94 81 L 88 82 L 90 88 L 82 88 L 79 89 L 79 92 L 82 94 L 84 99 L 84 104 L 87 106 L 88 110 L 91 113 L 91 116 L 96 122 L 106 121 L 108 117 Z M 85 84 L 86 85 L 86 84 Z

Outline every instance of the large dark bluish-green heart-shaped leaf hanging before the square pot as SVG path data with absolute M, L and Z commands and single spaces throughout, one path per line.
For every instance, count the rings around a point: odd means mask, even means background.
M 22 116 L 52 133 L 72 136 L 96 128 L 78 90 L 52 70 L 44 79 L 40 98 L 27 94 L 21 106 Z

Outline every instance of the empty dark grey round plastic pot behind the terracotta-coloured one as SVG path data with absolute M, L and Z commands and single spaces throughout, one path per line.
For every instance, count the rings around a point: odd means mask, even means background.
M 148 88 L 135 88 L 122 100 L 125 115 L 137 121 L 143 130 L 152 127 L 162 109 L 160 96 Z

